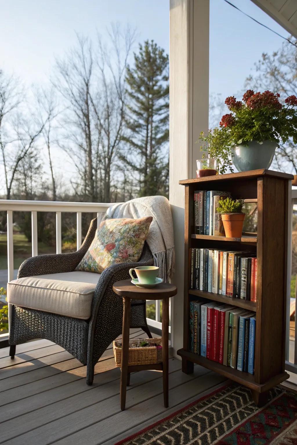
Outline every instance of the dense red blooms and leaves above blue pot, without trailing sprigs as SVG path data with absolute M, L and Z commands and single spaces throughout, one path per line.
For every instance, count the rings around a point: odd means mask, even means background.
M 273 141 L 278 146 L 289 138 L 297 143 L 297 97 L 287 97 L 284 104 L 279 98 L 278 93 L 254 93 L 252 89 L 244 93 L 242 101 L 227 97 L 225 104 L 231 113 L 222 117 L 220 127 L 227 130 L 229 145 Z

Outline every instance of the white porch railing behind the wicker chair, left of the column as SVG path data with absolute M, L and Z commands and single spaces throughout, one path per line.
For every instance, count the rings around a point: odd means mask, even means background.
M 61 253 L 61 214 L 62 212 L 77 214 L 77 249 L 81 247 L 81 213 L 97 214 L 97 226 L 99 226 L 102 216 L 105 214 L 111 203 L 105 202 L 52 202 L 52 201 L 17 201 L 0 199 L 0 211 L 7 212 L 7 262 L 8 262 L 8 282 L 13 280 L 13 212 L 31 212 L 32 223 L 32 256 L 38 255 L 37 245 L 37 212 L 56 213 L 56 252 Z M 155 320 L 147 318 L 147 324 L 151 327 L 161 329 L 160 322 L 160 302 L 148 300 L 149 305 L 156 305 Z M 170 307 L 171 314 L 171 307 Z M 170 329 L 170 327 L 169 327 Z M 169 331 L 170 332 L 170 331 Z

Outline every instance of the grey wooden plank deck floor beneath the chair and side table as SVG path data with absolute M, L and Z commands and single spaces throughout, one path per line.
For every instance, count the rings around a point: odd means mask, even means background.
M 146 337 L 131 329 L 131 337 Z M 131 374 L 126 410 L 120 409 L 120 369 L 110 347 L 95 368 L 93 386 L 85 383 L 85 366 L 60 346 L 36 340 L 0 349 L 0 443 L 6 445 L 114 444 L 215 389 L 224 378 L 195 366 L 181 372 L 170 359 L 169 408 L 163 406 L 162 374 Z

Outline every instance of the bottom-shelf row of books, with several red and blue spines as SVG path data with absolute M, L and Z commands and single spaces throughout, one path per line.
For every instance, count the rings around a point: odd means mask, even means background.
M 254 374 L 256 314 L 216 301 L 190 302 L 189 350 Z

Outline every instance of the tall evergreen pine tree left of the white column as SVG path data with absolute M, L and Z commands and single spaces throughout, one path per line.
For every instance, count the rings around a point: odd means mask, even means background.
M 168 193 L 169 58 L 154 40 L 139 44 L 126 70 L 128 147 L 122 161 L 136 174 L 138 195 Z

